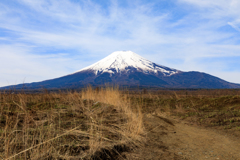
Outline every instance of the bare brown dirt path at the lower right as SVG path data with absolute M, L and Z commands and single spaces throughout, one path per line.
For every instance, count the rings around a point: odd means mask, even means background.
M 127 159 L 240 160 L 240 139 L 183 121 L 145 115 L 147 142 Z

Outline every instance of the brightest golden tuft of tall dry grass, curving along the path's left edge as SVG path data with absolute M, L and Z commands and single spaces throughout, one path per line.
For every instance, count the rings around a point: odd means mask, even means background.
M 140 106 L 135 106 L 137 110 L 133 112 L 128 95 L 121 94 L 118 87 L 93 89 L 89 86 L 82 92 L 82 98 L 114 105 L 128 119 L 128 123 L 121 129 L 122 134 L 130 136 L 129 138 L 133 140 L 140 140 L 142 138 L 141 135 L 144 133 L 144 127 Z

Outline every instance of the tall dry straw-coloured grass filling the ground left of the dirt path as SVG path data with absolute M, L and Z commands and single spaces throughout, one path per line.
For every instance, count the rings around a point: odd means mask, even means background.
M 143 134 L 140 109 L 118 88 L 0 94 L 0 159 L 104 159 Z

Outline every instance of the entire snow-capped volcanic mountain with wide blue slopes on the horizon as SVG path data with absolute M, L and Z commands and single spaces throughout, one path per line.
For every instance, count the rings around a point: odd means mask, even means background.
M 240 88 L 240 84 L 229 83 L 201 72 L 183 72 L 151 62 L 131 51 L 113 52 L 106 58 L 75 73 L 46 80 L 2 87 L 1 89 L 67 89 L 87 85 L 104 84 L 119 86 L 145 86 L 161 88 Z

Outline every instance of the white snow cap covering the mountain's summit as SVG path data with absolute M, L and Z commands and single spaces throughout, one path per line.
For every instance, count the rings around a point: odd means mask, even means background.
M 105 57 L 104 59 L 81 69 L 78 72 L 85 70 L 92 70 L 96 75 L 105 72 L 114 74 L 122 71 L 127 71 L 130 68 L 137 69 L 144 73 L 158 72 L 163 73 L 165 76 L 170 76 L 178 73 L 176 69 L 171 69 L 165 66 L 155 64 L 132 51 L 116 51 Z

